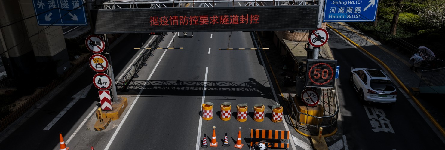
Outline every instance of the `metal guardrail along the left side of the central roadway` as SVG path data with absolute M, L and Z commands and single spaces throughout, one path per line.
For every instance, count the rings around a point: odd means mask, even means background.
M 145 51 L 142 53 L 142 57 L 140 57 L 135 63 L 132 64 L 131 68 L 125 73 L 125 75 L 122 77 L 121 80 L 118 80 L 116 82 L 122 81 L 123 89 L 126 89 L 128 87 L 128 83 L 133 80 L 133 78 L 138 78 L 138 72 L 142 69 L 143 66 L 147 66 L 145 63 L 150 56 L 152 56 L 153 51 L 158 47 L 159 43 L 161 43 L 164 36 L 166 36 L 167 33 L 162 33 L 162 35 L 157 36 L 153 43 L 149 45 L 152 49 L 148 49 L 148 51 Z M 118 83 L 116 83 L 118 84 Z

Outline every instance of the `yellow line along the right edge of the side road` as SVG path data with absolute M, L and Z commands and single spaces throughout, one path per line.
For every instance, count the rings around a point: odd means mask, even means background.
M 425 107 L 423 107 L 423 105 L 419 102 L 419 100 L 416 99 L 416 97 L 413 96 L 413 93 L 411 93 L 411 91 L 408 90 L 407 87 L 405 87 L 405 84 L 402 83 L 402 81 L 397 78 L 397 76 L 394 74 L 394 72 L 391 71 L 391 69 L 389 69 L 388 66 L 386 66 L 385 63 L 383 63 L 380 59 L 378 59 L 376 56 L 372 55 L 371 53 L 369 53 L 368 51 L 366 51 L 364 48 L 360 47 L 358 44 L 354 43 L 351 39 L 349 39 L 348 37 L 344 36 L 343 34 L 341 34 L 340 32 L 338 32 L 335 28 L 332 28 L 329 24 L 326 24 L 326 26 L 328 26 L 329 28 L 331 28 L 332 30 L 334 30 L 335 32 L 337 32 L 340 36 L 342 36 L 344 39 L 348 40 L 350 43 L 352 43 L 354 46 L 356 46 L 358 49 L 362 50 L 364 53 L 368 54 L 370 57 L 372 57 L 373 59 L 375 59 L 377 62 L 379 62 L 386 70 L 389 71 L 389 74 L 392 75 L 392 77 L 394 77 L 394 79 L 397 81 L 397 83 L 399 83 L 402 87 L 402 89 L 408 93 L 408 95 L 411 97 L 411 99 L 413 99 L 414 103 L 417 104 L 417 106 L 419 106 L 419 108 L 426 114 L 426 116 L 429 118 L 429 120 L 431 122 L 433 122 L 434 126 L 437 127 L 437 129 L 439 131 L 441 131 L 442 135 L 445 136 L 445 130 L 442 128 L 442 126 L 436 121 L 436 119 L 433 118 L 433 116 L 431 114 L 429 114 L 429 112 L 425 109 Z

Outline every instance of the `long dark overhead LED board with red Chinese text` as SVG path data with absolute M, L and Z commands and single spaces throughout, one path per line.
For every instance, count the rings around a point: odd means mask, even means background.
M 95 33 L 315 30 L 318 5 L 91 10 Z

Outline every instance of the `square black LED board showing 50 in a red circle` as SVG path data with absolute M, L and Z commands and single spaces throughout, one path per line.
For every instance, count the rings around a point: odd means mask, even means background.
M 306 87 L 333 88 L 337 60 L 307 59 Z

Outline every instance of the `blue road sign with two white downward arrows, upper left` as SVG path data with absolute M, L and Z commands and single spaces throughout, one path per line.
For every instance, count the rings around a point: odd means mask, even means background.
M 32 0 L 39 25 L 87 25 L 83 0 Z

